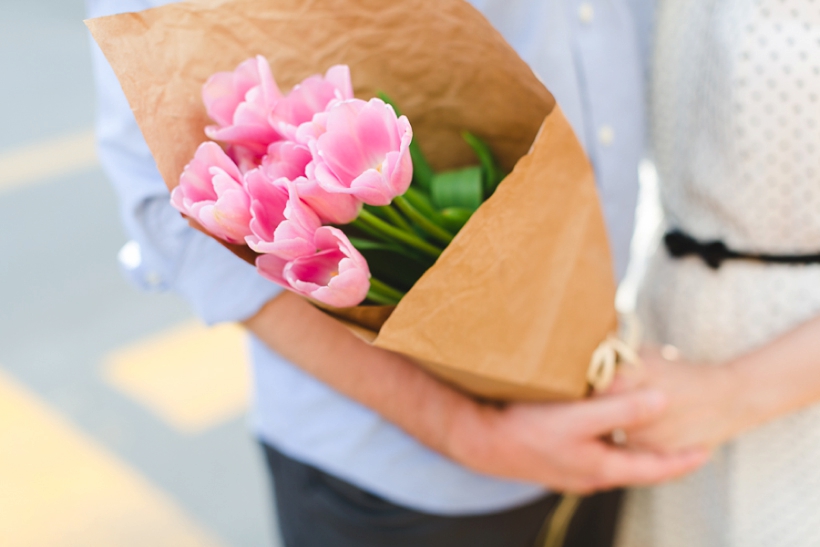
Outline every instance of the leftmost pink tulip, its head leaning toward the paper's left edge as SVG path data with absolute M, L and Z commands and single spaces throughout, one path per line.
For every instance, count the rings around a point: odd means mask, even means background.
M 250 197 L 242 174 L 214 142 L 199 145 L 171 193 L 171 204 L 229 243 L 242 243 L 251 233 Z

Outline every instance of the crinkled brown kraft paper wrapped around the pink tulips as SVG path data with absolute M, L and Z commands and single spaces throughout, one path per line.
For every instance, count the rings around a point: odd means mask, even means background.
M 356 95 L 390 95 L 437 169 L 475 163 L 461 131 L 485 139 L 513 173 L 375 344 L 485 397 L 585 393 L 590 356 L 615 326 L 592 171 L 550 93 L 469 4 L 200 0 L 87 24 L 169 188 L 205 139 L 202 84 L 257 54 L 283 90 L 350 65 Z

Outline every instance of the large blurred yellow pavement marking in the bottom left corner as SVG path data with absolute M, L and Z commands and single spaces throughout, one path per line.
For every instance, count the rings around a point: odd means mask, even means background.
M 166 495 L 2 371 L 0 544 L 219 545 Z

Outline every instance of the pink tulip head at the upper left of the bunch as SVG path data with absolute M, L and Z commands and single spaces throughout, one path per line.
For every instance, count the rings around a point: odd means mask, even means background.
M 233 72 L 218 72 L 202 88 L 205 109 L 217 123 L 206 127 L 205 133 L 261 156 L 281 138 L 268 121 L 281 97 L 270 65 L 261 55 Z

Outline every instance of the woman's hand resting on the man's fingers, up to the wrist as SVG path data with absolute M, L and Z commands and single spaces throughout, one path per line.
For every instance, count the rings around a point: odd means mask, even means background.
M 655 388 L 668 404 L 657 418 L 626 431 L 629 446 L 664 453 L 711 449 L 750 426 L 732 367 L 665 359 L 654 348 L 641 357 L 643 364 L 623 369 L 610 392 Z

